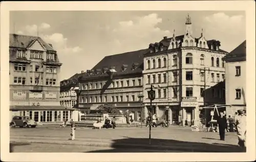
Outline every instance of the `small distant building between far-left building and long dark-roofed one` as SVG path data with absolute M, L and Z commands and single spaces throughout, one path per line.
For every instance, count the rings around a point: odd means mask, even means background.
M 83 71 L 82 71 L 83 73 Z M 60 82 L 60 105 L 67 108 L 73 108 L 72 119 L 78 121 L 78 102 L 79 102 L 79 77 L 81 74 L 75 74 L 69 79 Z

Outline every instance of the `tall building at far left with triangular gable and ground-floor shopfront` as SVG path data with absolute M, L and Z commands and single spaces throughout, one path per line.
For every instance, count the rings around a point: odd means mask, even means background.
M 26 115 L 39 123 L 70 119 L 59 104 L 61 63 L 52 44 L 40 37 L 10 34 L 10 116 Z

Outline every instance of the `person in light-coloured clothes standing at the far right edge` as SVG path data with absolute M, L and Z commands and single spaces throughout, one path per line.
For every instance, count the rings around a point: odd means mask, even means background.
M 236 126 L 238 134 L 238 145 L 241 148 L 245 148 L 246 142 L 246 115 L 244 115 L 244 110 L 238 110 L 238 116 L 236 117 Z

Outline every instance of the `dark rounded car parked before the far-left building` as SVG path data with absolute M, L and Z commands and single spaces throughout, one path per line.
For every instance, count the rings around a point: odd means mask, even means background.
M 20 127 L 20 128 L 35 128 L 37 123 L 34 120 L 31 120 L 29 117 L 23 116 L 14 116 L 10 122 L 10 127 Z

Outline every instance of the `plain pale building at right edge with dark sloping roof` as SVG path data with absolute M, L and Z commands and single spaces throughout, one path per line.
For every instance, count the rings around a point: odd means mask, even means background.
M 246 40 L 226 55 L 226 108 L 227 114 L 246 109 Z

